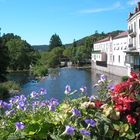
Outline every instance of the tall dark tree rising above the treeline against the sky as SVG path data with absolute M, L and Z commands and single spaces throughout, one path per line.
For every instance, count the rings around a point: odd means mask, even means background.
M 50 43 L 49 43 L 49 50 L 52 50 L 53 48 L 61 47 L 61 46 L 62 46 L 62 41 L 59 35 L 57 34 L 52 35 L 50 39 Z

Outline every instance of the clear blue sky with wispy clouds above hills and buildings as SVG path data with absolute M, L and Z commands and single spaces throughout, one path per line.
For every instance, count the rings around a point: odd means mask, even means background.
M 98 32 L 127 30 L 129 12 L 140 0 L 0 0 L 2 33 L 14 33 L 31 45 L 62 43 Z

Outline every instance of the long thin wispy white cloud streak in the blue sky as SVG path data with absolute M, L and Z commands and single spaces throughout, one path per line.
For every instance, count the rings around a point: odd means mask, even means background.
M 86 9 L 86 10 L 79 11 L 79 13 L 83 13 L 83 14 L 100 13 L 100 12 L 112 11 L 112 10 L 119 9 L 119 8 L 122 8 L 122 5 L 118 1 L 110 7 Z

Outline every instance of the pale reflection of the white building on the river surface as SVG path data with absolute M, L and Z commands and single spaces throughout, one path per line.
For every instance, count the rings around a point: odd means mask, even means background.
M 120 76 L 109 74 L 109 73 L 99 71 L 96 69 L 91 69 L 91 77 L 92 77 L 93 85 L 98 82 L 101 74 L 104 74 L 106 76 L 107 80 L 111 80 L 112 81 L 111 84 L 117 84 L 117 83 L 121 82 Z

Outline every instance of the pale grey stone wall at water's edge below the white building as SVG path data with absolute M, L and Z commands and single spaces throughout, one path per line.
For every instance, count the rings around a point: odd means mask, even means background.
M 114 65 L 109 65 L 109 64 L 107 65 L 107 67 L 102 67 L 102 66 L 96 65 L 96 62 L 93 62 L 93 61 L 92 61 L 92 69 L 97 69 L 97 70 L 104 71 L 104 72 L 111 73 L 118 76 L 128 75 L 127 67 L 114 66 Z

